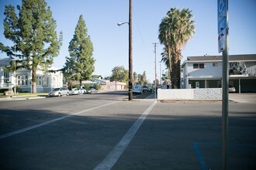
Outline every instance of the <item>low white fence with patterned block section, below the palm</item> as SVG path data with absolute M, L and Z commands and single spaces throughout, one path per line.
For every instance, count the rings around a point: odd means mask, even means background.
M 222 88 L 158 89 L 157 100 L 222 99 Z

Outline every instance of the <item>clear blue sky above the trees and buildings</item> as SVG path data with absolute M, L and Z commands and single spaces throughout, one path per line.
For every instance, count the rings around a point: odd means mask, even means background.
M 0 0 L 0 41 L 11 43 L 3 35 L 5 5 L 21 5 L 21 0 Z M 128 69 L 128 25 L 117 26 L 117 22 L 128 22 L 129 0 L 47 0 L 57 32 L 64 34 L 60 55 L 54 66 L 62 68 L 68 56 L 68 44 L 74 35 L 79 15 L 83 15 L 88 34 L 91 36 L 96 59 L 95 73 L 110 76 L 115 66 Z M 133 0 L 133 71 L 143 73 L 154 80 L 154 45 L 159 43 L 158 26 L 170 8 L 189 8 L 194 15 L 195 35 L 182 50 L 183 60 L 187 56 L 221 55 L 217 42 L 217 0 Z M 230 0 L 229 53 L 256 53 L 256 0 Z M 157 45 L 157 76 L 163 46 Z M 6 57 L 5 53 L 0 53 Z M 162 64 L 162 70 L 165 69 Z

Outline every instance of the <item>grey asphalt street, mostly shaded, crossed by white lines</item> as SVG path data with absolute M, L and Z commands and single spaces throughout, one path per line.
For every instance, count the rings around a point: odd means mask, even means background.
M 126 92 L 0 101 L 0 169 L 220 169 L 221 101 Z M 230 101 L 228 169 L 256 169 L 256 105 Z

